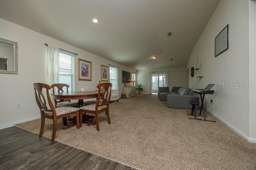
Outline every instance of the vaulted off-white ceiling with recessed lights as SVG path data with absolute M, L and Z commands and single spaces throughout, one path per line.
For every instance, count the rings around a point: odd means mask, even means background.
M 0 18 L 137 70 L 174 68 L 186 67 L 218 2 L 0 0 Z

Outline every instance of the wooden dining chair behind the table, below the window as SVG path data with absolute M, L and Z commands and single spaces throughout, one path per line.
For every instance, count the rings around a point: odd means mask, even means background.
M 62 83 L 56 83 L 56 84 L 52 84 L 52 94 L 54 94 L 54 87 L 57 87 L 58 89 L 58 93 L 63 93 L 63 87 L 66 87 L 67 89 L 67 93 L 68 93 L 68 87 L 70 87 L 67 84 L 62 84 Z M 67 102 L 68 101 L 68 102 Z M 62 103 L 65 102 L 65 103 Z M 54 105 L 55 107 L 62 107 L 62 106 L 70 106 L 70 107 L 78 107 L 77 102 L 70 102 L 70 100 L 56 100 L 54 99 Z

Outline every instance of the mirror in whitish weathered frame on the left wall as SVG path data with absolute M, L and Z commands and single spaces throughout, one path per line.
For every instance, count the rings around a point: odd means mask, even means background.
M 18 74 L 18 43 L 0 38 L 0 73 Z

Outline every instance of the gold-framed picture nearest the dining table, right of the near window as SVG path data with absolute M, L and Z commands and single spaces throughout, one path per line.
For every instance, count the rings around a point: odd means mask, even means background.
M 78 80 L 92 81 L 92 62 L 78 59 Z

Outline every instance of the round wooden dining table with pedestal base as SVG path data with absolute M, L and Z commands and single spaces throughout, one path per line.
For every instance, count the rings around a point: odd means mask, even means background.
M 93 99 L 98 97 L 98 91 L 68 91 L 62 93 L 52 94 L 54 99 L 57 100 L 78 100 L 78 107 L 84 106 L 84 99 Z M 87 125 L 95 125 L 94 116 L 83 114 L 82 123 Z M 63 129 L 67 129 L 76 125 L 76 119 L 63 118 Z M 68 122 L 70 121 L 70 122 Z

